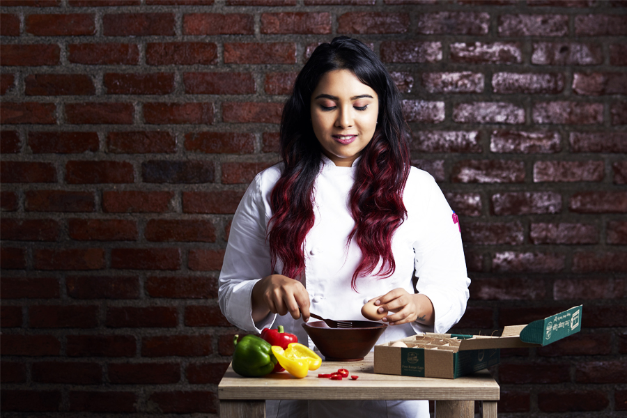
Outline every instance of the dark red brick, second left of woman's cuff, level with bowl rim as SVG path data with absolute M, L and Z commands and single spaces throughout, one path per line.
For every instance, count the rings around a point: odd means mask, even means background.
M 109 307 L 105 325 L 111 328 L 176 327 L 176 307 Z

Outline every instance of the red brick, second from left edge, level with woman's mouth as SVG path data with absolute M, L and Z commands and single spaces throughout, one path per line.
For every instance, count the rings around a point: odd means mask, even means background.
M 96 132 L 29 132 L 33 154 L 80 154 L 98 151 Z

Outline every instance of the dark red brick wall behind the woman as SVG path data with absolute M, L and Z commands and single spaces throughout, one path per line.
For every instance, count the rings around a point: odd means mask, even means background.
M 2 0 L 1 410 L 216 416 L 231 217 L 318 42 L 371 45 L 461 220 L 504 417 L 627 412 L 627 2 Z M 566 414 L 566 415 L 564 415 Z

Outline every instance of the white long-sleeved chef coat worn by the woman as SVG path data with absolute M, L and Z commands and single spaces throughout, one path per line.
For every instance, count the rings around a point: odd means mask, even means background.
M 314 226 L 303 243 L 305 268 L 297 279 L 307 288 L 310 311 L 338 320 L 364 320 L 361 309 L 373 297 L 385 295 L 394 288 L 404 288 L 415 293 L 412 276 L 419 278 L 417 291 L 433 303 L 435 325 L 420 323 L 387 327 L 378 343 L 401 339 L 422 332 L 447 332 L 455 325 L 466 309 L 469 297 L 463 247 L 457 217 L 451 210 L 442 191 L 426 173 L 411 168 L 403 192 L 407 218 L 392 237 L 392 253 L 396 270 L 391 277 L 359 277 L 357 292 L 350 287 L 353 273 L 359 264 L 361 251 L 355 242 L 347 244 L 348 235 L 355 226 L 350 215 L 348 199 L 355 181 L 353 167 L 336 167 L 323 155 L 320 174 L 314 183 Z M 272 271 L 270 249 L 266 240 L 267 226 L 272 217 L 270 193 L 281 176 L 282 164 L 265 169 L 249 185 L 235 212 L 219 277 L 219 304 L 222 313 L 233 325 L 249 332 L 261 332 L 265 327 L 283 325 L 285 332 L 296 334 L 298 341 L 316 349 L 301 327 L 302 320 L 289 314 L 268 314 L 254 323 L 251 316 L 251 292 L 257 281 L 273 273 L 281 274 L 280 260 Z M 378 272 L 378 267 L 375 273 Z M 350 401 L 353 402 L 353 401 Z M 426 401 L 368 401 L 362 405 L 382 412 L 389 417 L 428 417 Z M 294 417 L 295 410 L 303 411 L 292 403 L 268 403 L 268 416 Z M 394 408 L 390 405 L 394 404 Z M 340 417 L 364 416 L 364 409 L 355 403 L 337 401 L 309 401 L 302 416 L 330 416 L 328 408 L 339 408 L 332 415 Z M 282 410 L 282 411 L 281 411 Z M 426 410 L 426 415 L 425 414 Z M 274 413 L 275 415 L 271 415 Z M 387 415 L 385 415 L 387 413 Z M 372 415 L 374 416 L 374 415 Z

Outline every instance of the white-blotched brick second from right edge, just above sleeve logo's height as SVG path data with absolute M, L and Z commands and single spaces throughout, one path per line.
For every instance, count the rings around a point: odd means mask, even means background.
M 495 215 L 530 215 L 562 212 L 562 196 L 555 192 L 509 192 L 493 194 Z

